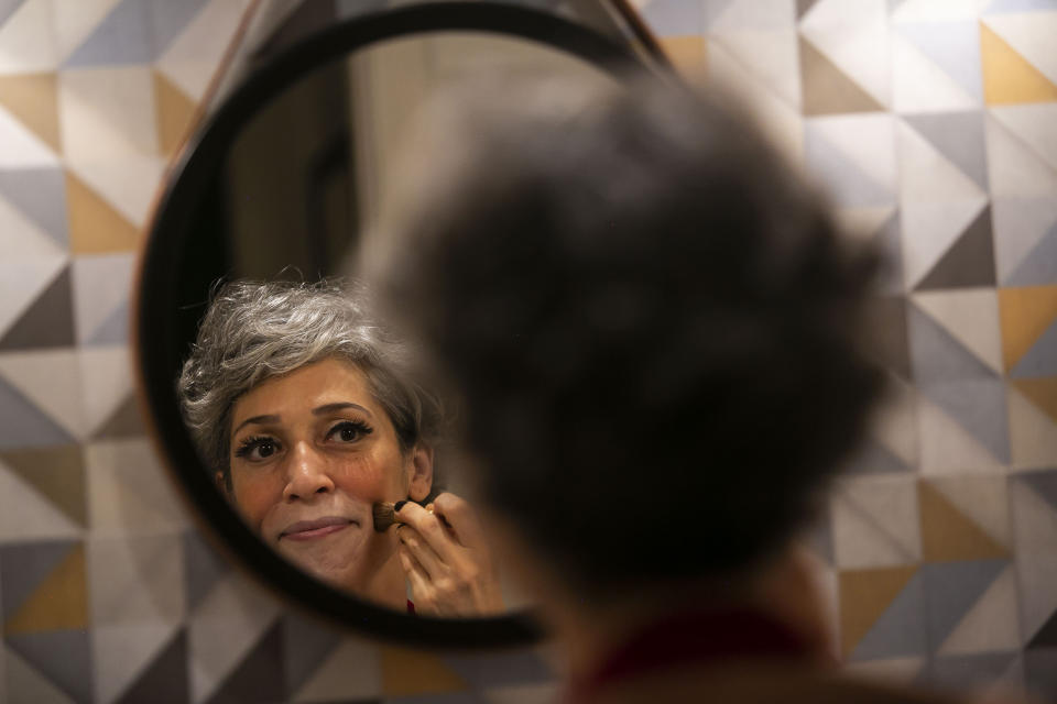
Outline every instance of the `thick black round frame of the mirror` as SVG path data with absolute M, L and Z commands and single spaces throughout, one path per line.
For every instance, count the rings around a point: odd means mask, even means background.
M 149 238 L 140 258 L 132 315 L 137 381 L 141 405 L 165 464 L 184 498 L 243 566 L 287 601 L 342 627 L 367 635 L 428 647 L 486 648 L 525 645 L 542 629 L 531 612 L 494 618 L 446 620 L 408 616 L 373 606 L 301 572 L 251 532 L 217 491 L 203 466 L 179 415 L 175 389 L 174 339 L 165 315 L 175 310 L 174 262 L 192 227 L 214 169 L 239 129 L 277 92 L 326 62 L 371 44 L 416 33 L 481 31 L 520 37 L 578 56 L 618 79 L 649 69 L 635 52 L 614 40 L 555 14 L 493 2 L 426 2 L 383 10 L 334 24 L 257 68 L 207 119 L 166 174 Z M 184 468 L 179 471 L 177 468 Z

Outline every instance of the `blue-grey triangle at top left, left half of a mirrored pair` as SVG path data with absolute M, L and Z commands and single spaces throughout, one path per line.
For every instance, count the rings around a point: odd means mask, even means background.
M 142 0 L 121 0 L 64 67 L 148 64 L 154 59 L 150 8 Z

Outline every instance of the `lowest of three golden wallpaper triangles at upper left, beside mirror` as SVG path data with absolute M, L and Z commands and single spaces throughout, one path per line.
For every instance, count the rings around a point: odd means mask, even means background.
M 66 219 L 73 254 L 130 252 L 140 231 L 84 182 L 66 172 Z

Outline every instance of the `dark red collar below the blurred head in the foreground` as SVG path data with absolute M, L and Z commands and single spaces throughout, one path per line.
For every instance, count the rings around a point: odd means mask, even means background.
M 759 609 L 674 612 L 635 632 L 588 676 L 574 679 L 566 701 L 588 702 L 607 686 L 669 668 L 699 668 L 738 658 L 806 660 L 813 652 L 805 638 Z

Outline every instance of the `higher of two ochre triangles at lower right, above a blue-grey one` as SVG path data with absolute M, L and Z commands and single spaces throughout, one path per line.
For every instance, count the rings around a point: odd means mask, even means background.
M 917 494 L 922 516 L 922 557 L 927 562 L 990 560 L 1010 557 L 939 491 L 922 483 Z

